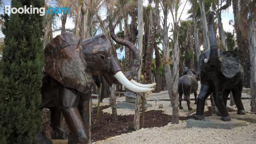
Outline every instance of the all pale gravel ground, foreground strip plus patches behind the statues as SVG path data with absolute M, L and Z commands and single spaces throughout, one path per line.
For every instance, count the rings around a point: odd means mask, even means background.
M 122 101 L 122 100 L 120 100 Z M 186 102 L 182 102 L 183 110 L 179 110 L 181 116 L 192 114 L 196 110 L 195 101 L 191 101 L 193 110 L 188 111 Z M 148 101 L 152 107 L 146 110 L 163 110 L 164 113 L 172 115 L 172 108 L 169 101 Z M 210 101 L 207 101 L 210 106 Z M 108 100 L 102 105 L 108 104 Z M 163 108 L 159 109 L 159 104 L 163 104 Z M 229 101 L 227 103 L 229 105 Z M 243 100 L 246 111 L 250 110 L 250 100 Z M 205 110 L 207 110 L 205 106 Z M 230 107 L 230 106 L 229 106 Z M 236 110 L 236 106 L 230 107 Z M 104 112 L 111 113 L 111 108 L 104 109 Z M 117 113 L 134 114 L 131 109 L 117 109 Z M 160 128 L 147 128 L 134 131 L 132 133 L 122 134 L 110 137 L 105 140 L 94 143 L 256 143 L 256 124 L 247 123 L 248 126 L 237 127 L 232 130 L 225 129 L 203 129 L 203 128 L 186 128 L 186 122 L 180 121 L 178 125 L 168 124 Z

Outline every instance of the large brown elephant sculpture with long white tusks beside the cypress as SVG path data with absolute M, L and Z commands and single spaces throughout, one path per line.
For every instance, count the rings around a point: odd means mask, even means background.
M 59 129 L 61 113 L 71 131 L 68 143 L 88 143 L 90 98 L 93 76 L 102 75 L 105 80 L 122 84 L 134 92 L 154 90 L 154 84 L 140 84 L 133 80 L 140 67 L 139 52 L 130 41 L 118 38 L 111 29 L 111 37 L 133 53 L 130 71 L 123 72 L 117 58 L 114 43 L 106 34 L 81 40 L 71 33 L 56 36 L 45 49 L 45 76 L 41 88 L 41 108 L 51 110 L 51 127 L 62 137 Z

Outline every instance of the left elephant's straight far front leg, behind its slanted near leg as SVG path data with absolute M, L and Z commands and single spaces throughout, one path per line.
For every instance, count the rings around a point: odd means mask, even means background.
M 91 91 L 88 93 L 81 94 L 81 101 L 79 104 L 79 111 L 82 116 L 82 121 L 86 126 L 86 136 L 88 138 L 88 143 L 91 143 Z

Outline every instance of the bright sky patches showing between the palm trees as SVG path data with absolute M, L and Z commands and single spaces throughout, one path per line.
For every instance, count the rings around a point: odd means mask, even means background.
M 67 0 L 68 1 L 68 0 Z M 178 16 L 181 14 L 182 12 L 182 8 L 184 7 L 185 5 L 185 0 L 181 0 L 181 6 L 180 6 L 180 9 L 178 11 Z M 10 5 L 10 0 L 4 0 L 4 5 Z M 154 4 L 153 4 L 154 5 Z M 146 0 L 143 0 L 143 6 L 147 6 L 147 1 Z M 188 18 L 188 13 L 187 11 L 190 9 L 191 5 L 189 2 L 186 3 L 185 5 L 185 8 L 183 10 L 183 13 L 181 14 L 181 20 L 186 20 Z M 161 9 L 161 7 L 160 7 Z M 0 9 L 0 13 L 3 14 L 4 13 L 4 8 Z M 100 12 L 99 11 L 99 14 L 101 17 L 105 17 L 105 12 Z M 160 15 L 163 16 L 163 13 L 160 11 Z M 232 6 L 229 7 L 228 10 L 226 10 L 225 12 L 222 13 L 222 23 L 223 23 L 223 29 L 224 31 L 228 31 L 228 32 L 233 32 L 233 26 L 229 25 L 229 20 L 233 19 L 233 10 L 232 10 Z M 172 15 L 169 13 L 168 15 L 168 19 L 167 19 L 167 22 L 168 23 L 173 23 L 172 22 Z M 58 25 L 59 27 L 61 26 L 61 21 L 60 19 L 58 20 Z M 68 18 L 67 19 L 67 23 L 66 23 L 66 28 L 67 29 L 73 29 L 75 27 L 75 23 L 74 23 L 74 20 L 73 19 L 70 19 Z M 116 28 L 118 29 L 118 27 Z M 53 35 L 54 37 L 59 35 L 60 34 L 60 31 L 58 32 L 55 32 Z M 0 37 L 4 37 L 2 31 L 0 31 Z M 124 55 L 124 52 L 119 52 L 117 51 L 118 53 L 118 58 L 121 59 Z

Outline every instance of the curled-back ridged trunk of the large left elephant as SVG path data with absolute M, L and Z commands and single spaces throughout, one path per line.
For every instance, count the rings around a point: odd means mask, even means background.
M 140 68 L 139 50 L 136 48 L 136 46 L 132 42 L 117 37 L 115 35 L 114 30 L 115 30 L 115 26 L 111 26 L 110 35 L 114 39 L 114 41 L 116 43 L 126 46 L 133 53 L 133 65 L 130 68 L 130 71 L 126 71 L 124 74 L 127 79 L 132 80 L 136 76 Z

